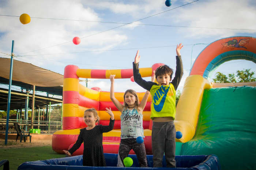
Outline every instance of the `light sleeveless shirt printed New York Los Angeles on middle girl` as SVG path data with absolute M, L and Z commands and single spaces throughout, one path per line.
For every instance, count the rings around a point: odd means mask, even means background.
M 124 108 L 121 114 L 121 139 L 143 137 L 143 115 L 133 108 Z

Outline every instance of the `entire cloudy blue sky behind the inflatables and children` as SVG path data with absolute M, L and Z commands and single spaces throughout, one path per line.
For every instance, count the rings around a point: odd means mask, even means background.
M 191 65 L 207 44 L 230 36 L 255 37 L 255 6 L 255 0 L 172 0 L 170 7 L 165 0 L 1 0 L 0 57 L 8 57 L 15 40 L 16 60 L 60 74 L 68 64 L 132 68 L 137 50 L 140 67 L 165 63 L 175 68 L 176 44 L 182 43 L 182 90 Z M 22 13 L 30 15 L 29 24 L 20 23 Z M 81 39 L 79 45 L 72 43 L 75 36 Z M 255 63 L 232 60 L 215 72 L 248 68 L 255 71 Z M 89 80 L 89 88 L 109 91 L 108 79 Z M 130 79 L 116 80 L 115 91 L 128 88 L 145 91 Z

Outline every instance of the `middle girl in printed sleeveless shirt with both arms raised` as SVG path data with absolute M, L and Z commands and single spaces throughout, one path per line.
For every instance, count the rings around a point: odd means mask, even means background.
M 124 104 L 122 105 L 114 96 L 114 76 L 115 75 L 110 75 L 110 99 L 121 112 L 121 142 L 118 150 L 117 166 L 124 166 L 124 158 L 127 157 L 129 151 L 133 149 L 140 167 L 148 167 L 144 142 L 137 143 L 136 138 L 144 137 L 142 111 L 146 106 L 150 92 L 146 91 L 142 101 L 139 102 L 136 92 L 129 89 L 124 93 Z M 154 81 L 154 76 L 152 79 Z

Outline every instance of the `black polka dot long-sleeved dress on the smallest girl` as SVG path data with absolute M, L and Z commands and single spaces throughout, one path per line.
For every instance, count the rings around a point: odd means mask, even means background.
M 108 126 L 96 125 L 91 130 L 80 129 L 76 143 L 69 153 L 73 154 L 83 143 L 83 166 L 106 166 L 103 154 L 102 133 L 109 132 L 114 127 L 114 120 L 109 121 Z

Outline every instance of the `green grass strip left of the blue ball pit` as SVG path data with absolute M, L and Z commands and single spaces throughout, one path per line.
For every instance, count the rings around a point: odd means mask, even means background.
M 52 146 L 23 147 L 0 149 L 0 161 L 7 159 L 10 169 L 16 170 L 18 166 L 27 161 L 38 161 L 52 158 L 63 158 L 64 154 L 58 154 L 52 150 Z M 1 167 L 2 169 L 3 167 Z

